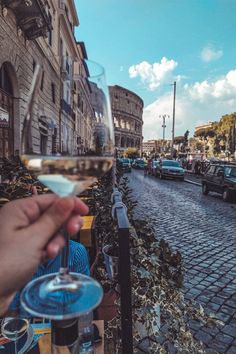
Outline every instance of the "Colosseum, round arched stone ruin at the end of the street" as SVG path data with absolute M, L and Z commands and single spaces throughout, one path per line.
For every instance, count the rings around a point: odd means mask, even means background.
M 115 126 L 115 146 L 119 154 L 135 147 L 141 154 L 143 100 L 121 86 L 110 86 L 112 116 Z

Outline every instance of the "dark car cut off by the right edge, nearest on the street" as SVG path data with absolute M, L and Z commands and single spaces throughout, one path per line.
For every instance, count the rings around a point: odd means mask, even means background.
M 236 164 L 210 164 L 202 179 L 202 193 L 222 194 L 225 202 L 236 197 Z

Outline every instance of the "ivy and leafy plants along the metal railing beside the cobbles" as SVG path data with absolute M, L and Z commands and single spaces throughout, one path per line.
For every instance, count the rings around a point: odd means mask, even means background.
M 155 238 L 155 233 L 149 220 L 135 218 L 137 201 L 133 199 L 129 179 L 124 177 L 119 169 L 116 173 L 116 183 L 122 192 L 122 201 L 127 206 L 130 221 L 130 252 L 132 276 L 132 306 L 133 323 L 144 325 L 150 341 L 149 353 L 169 353 L 169 345 L 181 353 L 205 353 L 201 342 L 194 339 L 188 326 L 189 319 L 201 321 L 206 326 L 213 326 L 217 321 L 212 316 L 206 316 L 203 308 L 194 302 L 184 299 L 181 290 L 184 268 L 181 254 L 173 252 L 164 240 Z M 113 175 L 107 174 L 95 185 L 93 194 L 97 203 L 96 240 L 100 249 L 109 242 L 117 247 L 116 222 L 111 217 L 111 193 Z M 122 257 L 122 255 L 120 255 Z M 102 284 L 105 291 L 116 292 L 116 281 L 110 281 L 104 270 L 101 252 L 97 256 L 93 276 Z M 155 306 L 160 304 L 161 323 L 164 332 L 157 332 Z M 116 301 L 117 316 L 108 321 L 105 337 L 106 342 L 113 342 L 112 353 L 120 353 L 120 301 Z M 158 341 L 158 335 L 163 338 Z M 134 345 L 143 340 L 139 330 L 133 328 Z

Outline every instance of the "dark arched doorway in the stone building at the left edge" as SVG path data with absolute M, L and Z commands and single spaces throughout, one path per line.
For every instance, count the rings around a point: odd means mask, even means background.
M 6 124 L 1 122 L 0 157 L 18 154 L 20 150 L 19 96 L 15 68 L 9 61 L 5 61 L 0 67 L 0 107 L 9 120 Z

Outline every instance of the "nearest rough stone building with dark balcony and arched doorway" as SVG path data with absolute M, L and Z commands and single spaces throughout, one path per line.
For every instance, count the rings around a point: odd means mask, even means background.
M 20 139 L 36 65 L 41 67 L 38 94 L 32 105 L 32 137 L 35 151 L 52 148 L 60 111 L 59 65 L 55 58 L 56 43 L 50 41 L 54 3 L 1 2 L 0 13 L 0 157 L 20 150 Z M 41 27 L 40 27 L 41 26 Z M 50 60 L 48 59 L 50 58 Z M 52 126 L 52 124 L 49 124 Z M 55 141 L 55 139 L 54 139 Z

